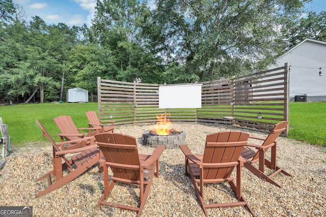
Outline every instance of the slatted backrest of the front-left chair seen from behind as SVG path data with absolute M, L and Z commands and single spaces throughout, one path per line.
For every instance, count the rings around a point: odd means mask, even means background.
M 114 177 L 128 180 L 140 179 L 136 138 L 119 133 L 103 133 L 95 135 L 95 139 Z

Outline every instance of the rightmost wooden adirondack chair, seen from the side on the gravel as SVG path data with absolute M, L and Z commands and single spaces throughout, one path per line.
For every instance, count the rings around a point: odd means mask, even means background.
M 247 146 L 244 147 L 241 153 L 241 157 L 246 159 L 246 163 L 243 164 L 244 167 L 246 167 L 256 176 L 263 178 L 269 183 L 275 184 L 277 187 L 280 188 L 282 188 L 281 185 L 275 182 L 271 178 L 280 172 L 284 173 L 285 175 L 292 176 L 289 173 L 285 172 L 284 170 L 280 169 L 278 166 L 276 166 L 276 145 L 277 145 L 276 139 L 280 136 L 280 134 L 284 130 L 286 130 L 287 125 L 288 125 L 287 121 L 282 121 L 277 123 L 273 128 L 273 130 L 270 131 L 269 135 L 265 139 L 250 136 L 249 138 L 263 141 L 263 143 L 261 145 L 248 143 Z M 256 150 L 250 147 L 253 147 Z M 270 161 L 265 158 L 265 153 L 269 148 L 271 148 Z M 253 165 L 254 163 L 257 162 L 259 163 L 258 168 Z M 266 175 L 264 172 L 265 166 L 275 171 L 270 175 Z

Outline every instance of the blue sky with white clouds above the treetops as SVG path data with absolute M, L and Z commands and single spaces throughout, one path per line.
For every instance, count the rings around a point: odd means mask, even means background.
M 149 1 L 153 7 L 154 1 Z M 32 16 L 41 17 L 47 24 L 66 23 L 68 26 L 91 24 L 94 16 L 96 0 L 13 0 L 13 3 L 23 7 L 27 19 Z M 326 11 L 326 0 L 313 0 L 306 5 L 309 11 Z

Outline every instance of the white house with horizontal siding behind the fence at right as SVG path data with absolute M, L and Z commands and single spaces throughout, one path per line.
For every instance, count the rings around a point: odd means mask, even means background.
M 277 59 L 273 69 L 290 65 L 290 100 L 307 95 L 308 101 L 326 101 L 326 42 L 306 39 Z M 322 76 L 319 76 L 321 68 Z

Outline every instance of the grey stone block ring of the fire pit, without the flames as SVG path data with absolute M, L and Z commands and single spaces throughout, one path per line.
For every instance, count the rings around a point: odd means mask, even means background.
M 166 148 L 177 148 L 180 144 L 185 144 L 185 132 L 180 131 L 177 134 L 160 136 L 151 133 L 151 130 L 147 130 L 143 133 L 142 144 L 153 148 L 157 145 L 164 145 Z

